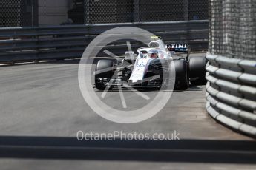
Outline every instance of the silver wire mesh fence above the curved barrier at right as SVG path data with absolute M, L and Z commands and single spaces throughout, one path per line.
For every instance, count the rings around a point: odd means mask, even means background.
M 210 0 L 210 44 L 212 54 L 255 59 L 256 1 Z

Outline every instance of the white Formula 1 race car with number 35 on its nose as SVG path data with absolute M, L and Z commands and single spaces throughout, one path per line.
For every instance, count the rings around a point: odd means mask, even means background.
M 189 44 L 165 45 L 157 39 L 137 52 L 125 52 L 125 56 L 114 60 L 99 60 L 95 72 L 96 89 L 108 90 L 114 86 L 161 89 L 170 84 L 169 75 L 173 69 L 174 89 L 188 89 L 189 81 L 191 84 L 206 84 L 206 58 L 189 57 Z M 177 55 L 180 52 L 187 55 Z

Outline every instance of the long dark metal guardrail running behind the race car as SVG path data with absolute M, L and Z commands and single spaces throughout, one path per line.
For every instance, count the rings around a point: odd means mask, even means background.
M 114 27 L 140 27 L 161 36 L 165 43 L 189 43 L 192 50 L 207 50 L 208 24 L 208 20 L 201 20 L 52 27 L 1 27 L 0 62 L 79 58 L 96 35 Z M 109 48 L 117 52 L 116 55 L 123 54 L 127 48 L 126 41 Z

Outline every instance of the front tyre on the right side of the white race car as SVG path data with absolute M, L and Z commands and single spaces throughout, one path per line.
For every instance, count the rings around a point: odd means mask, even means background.
M 188 66 L 186 60 L 174 60 L 175 65 L 175 86 L 174 89 L 186 90 L 188 89 Z

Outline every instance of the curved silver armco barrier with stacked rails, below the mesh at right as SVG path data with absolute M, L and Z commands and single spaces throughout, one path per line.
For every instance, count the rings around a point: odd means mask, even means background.
M 214 119 L 256 136 L 256 61 L 207 54 L 206 109 Z

